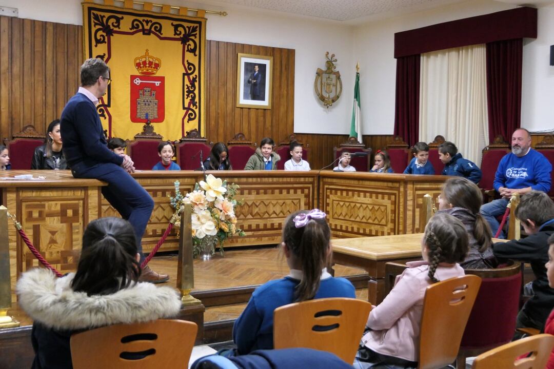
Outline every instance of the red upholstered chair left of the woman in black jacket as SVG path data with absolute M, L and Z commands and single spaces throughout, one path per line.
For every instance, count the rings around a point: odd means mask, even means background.
M 34 126 L 23 127 L 21 132 L 13 135 L 12 140 L 4 139 L 8 148 L 12 169 L 31 169 L 34 149 L 44 143 L 44 134 L 38 133 Z

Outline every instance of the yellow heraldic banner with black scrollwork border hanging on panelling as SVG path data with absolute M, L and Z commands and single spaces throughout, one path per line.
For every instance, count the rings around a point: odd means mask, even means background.
M 83 2 L 85 59 L 110 67 L 97 108 L 109 137 L 132 139 L 150 121 L 164 139 L 205 136 L 206 18 Z

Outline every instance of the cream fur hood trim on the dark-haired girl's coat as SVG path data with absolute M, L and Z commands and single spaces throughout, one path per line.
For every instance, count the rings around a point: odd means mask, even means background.
M 172 318 L 181 309 L 181 298 L 170 287 L 142 282 L 114 294 L 87 296 L 71 289 L 74 276 L 56 278 L 45 268 L 23 273 L 16 288 L 19 306 L 33 320 L 60 330 Z

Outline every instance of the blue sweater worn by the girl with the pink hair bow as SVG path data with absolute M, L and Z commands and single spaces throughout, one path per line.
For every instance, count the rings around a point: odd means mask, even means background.
M 294 289 L 299 283 L 300 280 L 287 276 L 270 280 L 254 290 L 233 326 L 233 340 L 239 355 L 273 349 L 273 310 L 294 302 Z M 315 299 L 329 297 L 356 298 L 354 286 L 345 278 L 321 279 Z

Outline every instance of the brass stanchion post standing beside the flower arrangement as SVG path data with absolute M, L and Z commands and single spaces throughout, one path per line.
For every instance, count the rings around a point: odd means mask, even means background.
M 182 210 L 182 211 L 181 211 Z M 183 297 L 184 306 L 199 305 L 202 302 L 191 296 L 194 288 L 194 265 L 192 259 L 192 209 L 191 206 L 182 206 L 181 225 L 179 233 L 179 257 L 177 264 L 177 288 Z

